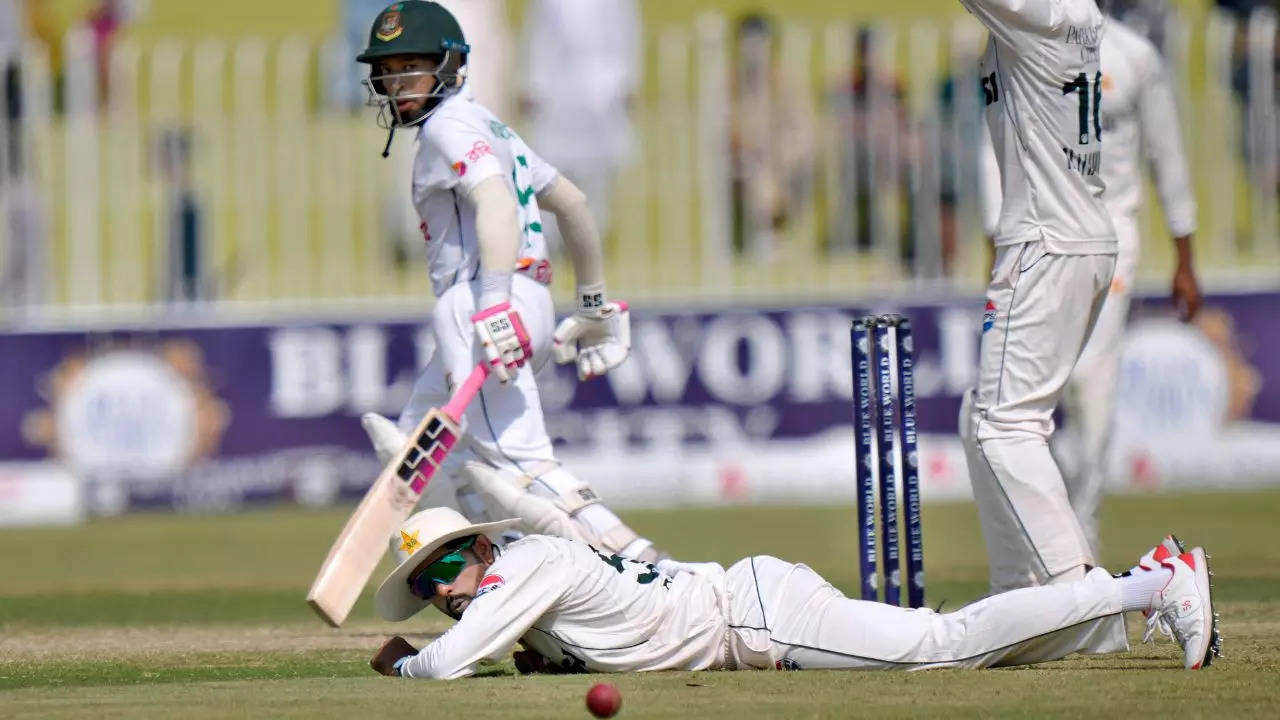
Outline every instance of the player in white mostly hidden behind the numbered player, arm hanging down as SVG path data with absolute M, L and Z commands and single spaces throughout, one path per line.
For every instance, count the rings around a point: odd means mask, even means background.
M 1115 225 L 1120 251 L 1102 313 L 1062 398 L 1066 416 L 1074 425 L 1071 437 L 1075 442 L 1056 443 L 1055 447 L 1073 455 L 1071 471 L 1066 477 L 1068 496 L 1094 556 L 1101 550 L 1098 511 L 1106 480 L 1116 372 L 1142 245 L 1138 211 L 1143 202 L 1143 159 L 1151 165 L 1165 224 L 1178 249 L 1171 281 L 1172 300 L 1184 320 L 1194 318 L 1201 304 L 1192 263 L 1196 200 L 1178 128 L 1178 108 L 1164 60 L 1142 33 L 1107 15 L 1101 63 L 1102 133 L 1106 137 L 1102 152 L 1106 191 L 1102 200 Z M 991 177 L 992 169 L 989 165 L 986 168 L 986 184 L 998 184 L 998 173 Z M 984 201 L 988 222 L 992 222 L 992 215 L 1000 211 L 1000 197 L 987 193 Z

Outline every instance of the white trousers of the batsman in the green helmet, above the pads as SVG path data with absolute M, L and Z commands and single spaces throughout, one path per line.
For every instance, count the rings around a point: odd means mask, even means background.
M 453 388 L 462 383 L 480 361 L 475 348 L 471 315 L 476 313 L 475 283 L 456 284 L 442 295 L 431 313 L 435 354 L 413 386 L 413 395 L 399 416 L 399 427 L 411 432 L 431 407 L 449 400 Z M 545 286 L 522 274 L 512 281 L 512 306 L 520 313 L 529 338 L 534 343 L 532 366 L 521 368 L 516 379 L 502 384 L 490 378 L 467 407 L 462 430 L 467 446 L 449 455 L 444 477 L 453 474 L 463 461 L 480 460 L 516 474 L 536 475 L 539 464 L 556 462 L 552 442 L 547 436 L 543 406 L 534 373 L 550 357 L 556 310 Z M 456 506 L 449 483 L 431 483 L 422 503 Z M 435 491 L 435 492 L 433 492 Z M 448 492 L 445 492 L 448 491 Z M 476 519 L 474 507 L 461 507 Z

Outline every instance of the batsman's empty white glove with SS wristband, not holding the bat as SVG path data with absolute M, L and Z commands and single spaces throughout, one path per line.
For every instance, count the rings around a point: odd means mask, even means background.
M 579 288 L 577 311 L 556 328 L 552 356 L 577 361 L 577 378 L 589 380 L 617 368 L 631 352 L 631 314 L 622 301 L 608 302 L 604 288 Z

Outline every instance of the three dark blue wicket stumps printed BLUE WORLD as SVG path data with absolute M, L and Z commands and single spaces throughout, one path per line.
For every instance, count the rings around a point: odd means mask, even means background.
M 906 505 L 908 606 L 924 606 L 924 544 L 915 432 L 915 368 L 911 323 L 901 315 L 867 316 L 850 329 L 854 364 L 854 434 L 858 478 L 858 556 L 863 600 L 901 605 L 899 483 Z M 874 380 L 873 380 L 874 378 Z M 877 488 L 878 480 L 878 488 Z M 878 491 L 878 492 L 877 492 Z M 876 509 L 879 500 L 879 550 Z M 877 555 L 882 559 L 877 562 Z

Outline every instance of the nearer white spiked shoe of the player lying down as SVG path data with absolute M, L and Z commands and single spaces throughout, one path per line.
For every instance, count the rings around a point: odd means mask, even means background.
M 1161 565 L 1172 570 L 1174 577 L 1152 597 L 1155 611 L 1147 618 L 1147 632 L 1162 619 L 1183 646 L 1183 666 L 1198 670 L 1221 652 L 1208 556 L 1197 547 L 1165 559 Z

